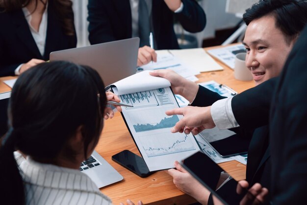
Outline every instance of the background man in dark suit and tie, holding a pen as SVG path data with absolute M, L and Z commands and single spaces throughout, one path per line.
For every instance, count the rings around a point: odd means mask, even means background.
M 183 29 L 200 32 L 206 17 L 196 0 L 89 0 L 88 31 L 91 44 L 140 37 L 137 65 L 156 61 L 149 47 L 153 33 L 154 49 L 179 49 L 174 17 Z

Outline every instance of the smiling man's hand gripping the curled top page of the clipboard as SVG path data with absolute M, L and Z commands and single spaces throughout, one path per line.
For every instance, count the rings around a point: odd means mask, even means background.
M 174 93 L 182 95 L 190 103 L 195 99 L 199 86 L 196 83 L 183 78 L 175 71 L 170 69 L 154 70 L 149 74 L 167 79 L 171 83 Z

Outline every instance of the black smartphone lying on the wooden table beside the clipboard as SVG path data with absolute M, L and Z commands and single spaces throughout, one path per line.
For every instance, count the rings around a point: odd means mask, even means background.
M 154 173 L 149 171 L 142 157 L 127 149 L 113 155 L 112 160 L 140 177 L 150 176 Z

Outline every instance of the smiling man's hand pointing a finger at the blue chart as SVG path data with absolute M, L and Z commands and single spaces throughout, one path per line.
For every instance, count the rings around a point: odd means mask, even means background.
M 193 135 L 199 134 L 204 129 L 211 129 L 215 127 L 213 119 L 211 117 L 211 106 L 209 107 L 192 107 L 187 106 L 184 108 L 176 108 L 166 111 L 168 116 L 182 115 L 176 125 L 171 129 L 171 132 L 184 132 L 185 134 Z

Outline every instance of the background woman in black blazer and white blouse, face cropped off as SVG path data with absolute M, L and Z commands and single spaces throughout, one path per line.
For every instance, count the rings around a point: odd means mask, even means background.
M 19 75 L 75 48 L 71 0 L 0 0 L 0 76 Z

